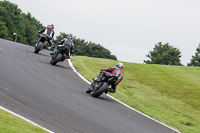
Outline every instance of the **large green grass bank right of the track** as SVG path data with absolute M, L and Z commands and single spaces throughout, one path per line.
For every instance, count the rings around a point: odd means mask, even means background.
M 90 82 L 117 62 L 72 58 Z M 125 77 L 112 96 L 183 133 L 200 133 L 200 67 L 123 63 Z

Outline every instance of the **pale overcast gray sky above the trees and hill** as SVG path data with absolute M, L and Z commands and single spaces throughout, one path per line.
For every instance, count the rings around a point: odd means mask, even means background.
M 143 63 L 158 42 L 186 65 L 200 43 L 199 0 L 10 0 L 44 26 L 103 45 L 118 60 Z

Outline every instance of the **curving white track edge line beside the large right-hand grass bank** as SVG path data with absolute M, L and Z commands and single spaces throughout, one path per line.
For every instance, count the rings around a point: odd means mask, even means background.
M 82 78 L 82 79 L 83 79 L 85 82 L 87 82 L 88 84 L 91 84 L 86 78 L 84 78 L 84 77 L 76 70 L 76 68 L 73 66 L 73 64 L 72 64 L 72 62 L 71 62 L 71 58 L 68 59 L 68 63 L 69 63 L 69 65 L 70 65 L 70 67 L 72 68 L 72 70 L 73 70 L 80 78 Z M 113 100 L 119 102 L 120 104 L 126 106 L 126 107 L 129 108 L 129 109 L 131 109 L 131 110 L 133 110 L 133 111 L 135 111 L 135 112 L 137 112 L 137 113 L 139 113 L 139 114 L 141 114 L 141 115 L 143 115 L 143 116 L 145 116 L 145 117 L 147 117 L 147 118 L 149 118 L 149 119 L 151 119 L 151 120 L 153 120 L 153 121 L 155 121 L 155 122 L 157 122 L 157 123 L 159 123 L 159 124 L 161 124 L 161 125 L 163 125 L 163 126 L 165 126 L 165 127 L 168 127 L 169 129 L 174 130 L 174 131 L 177 132 L 177 133 L 181 133 L 180 131 L 178 131 L 178 130 L 176 130 L 176 129 L 174 129 L 174 128 L 172 128 L 172 127 L 170 127 L 170 126 L 168 126 L 168 125 L 166 125 L 166 124 L 164 124 L 164 123 L 162 123 L 162 122 L 160 122 L 160 121 L 158 121 L 158 120 L 156 120 L 156 119 L 154 119 L 154 118 L 152 118 L 152 117 L 150 117 L 150 116 L 148 116 L 148 115 L 146 115 L 146 114 L 144 114 L 144 113 L 142 113 L 142 112 L 140 112 L 140 111 L 138 111 L 138 110 L 136 110 L 136 109 L 134 109 L 134 108 L 132 108 L 131 106 L 129 106 L 129 105 L 127 105 L 127 104 L 125 104 L 125 103 L 123 103 L 123 102 L 117 100 L 116 98 L 112 97 L 111 95 L 109 95 L 109 94 L 105 94 L 105 95 L 107 95 L 108 97 L 112 98 Z

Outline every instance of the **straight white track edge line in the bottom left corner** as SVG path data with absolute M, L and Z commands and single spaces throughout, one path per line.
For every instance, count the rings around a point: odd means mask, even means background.
M 41 128 L 41 129 L 43 129 L 43 130 L 45 130 L 45 131 L 47 131 L 47 132 L 49 132 L 49 133 L 55 133 L 55 132 L 53 132 L 53 131 L 51 131 L 51 130 L 49 130 L 49 129 L 46 129 L 45 127 L 42 127 L 42 126 L 38 125 L 37 123 L 35 123 L 35 122 L 33 122 L 33 121 L 31 121 L 31 120 L 29 120 L 29 119 L 27 119 L 27 118 L 25 118 L 25 117 L 19 115 L 19 114 L 13 112 L 13 111 L 10 111 L 10 110 L 8 110 L 8 109 L 2 107 L 2 106 L 0 106 L 0 109 L 2 109 L 2 110 L 4 110 L 4 111 L 6 111 L 6 112 L 8 112 L 8 113 L 10 113 L 10 114 L 12 114 L 12 115 L 18 117 L 18 118 L 20 118 L 20 119 L 22 119 L 22 120 L 24 120 L 24 121 L 26 121 L 26 122 L 28 122 L 28 123 L 34 125 L 34 126 L 37 126 L 37 127 Z

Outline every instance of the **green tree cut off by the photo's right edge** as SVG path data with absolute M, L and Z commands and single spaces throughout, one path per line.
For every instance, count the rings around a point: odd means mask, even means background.
M 200 66 L 200 44 L 196 49 L 195 56 L 192 56 L 191 62 L 187 64 L 188 66 Z

